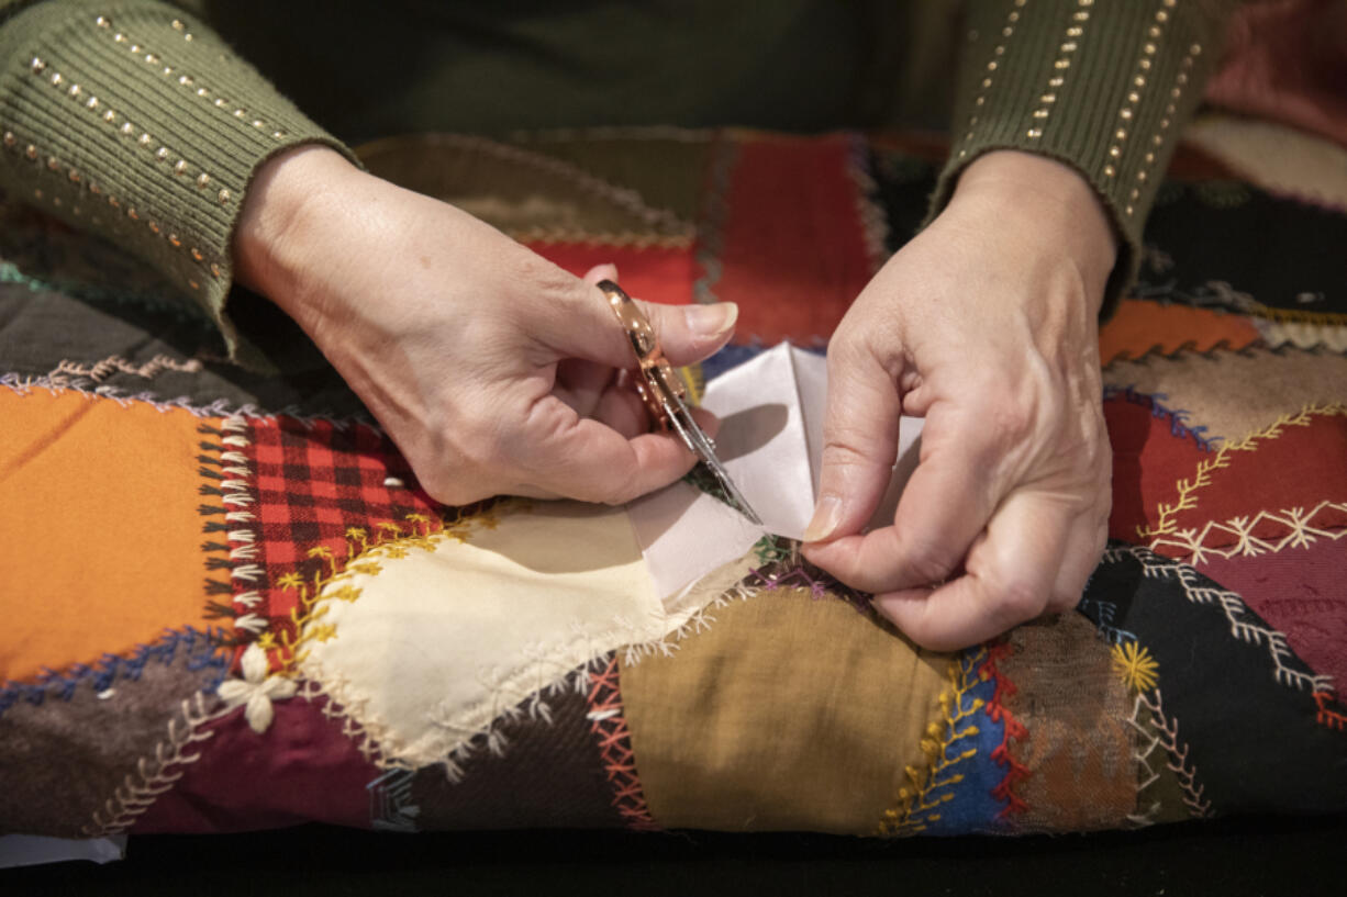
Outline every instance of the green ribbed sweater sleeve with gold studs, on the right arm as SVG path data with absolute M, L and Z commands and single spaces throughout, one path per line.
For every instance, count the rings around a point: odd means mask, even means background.
M 1121 238 L 1105 314 L 1131 286 L 1141 229 L 1216 63 L 1230 0 L 971 0 L 938 214 L 964 166 L 1020 150 L 1072 166 Z

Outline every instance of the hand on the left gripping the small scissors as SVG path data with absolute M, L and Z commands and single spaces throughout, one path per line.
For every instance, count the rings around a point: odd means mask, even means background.
M 240 279 L 314 339 L 446 504 L 508 493 L 617 504 L 695 458 L 616 372 L 634 356 L 603 294 L 443 202 L 303 147 L 268 163 L 234 237 Z M 675 365 L 737 308 L 647 306 Z M 713 424 L 709 416 L 703 426 Z

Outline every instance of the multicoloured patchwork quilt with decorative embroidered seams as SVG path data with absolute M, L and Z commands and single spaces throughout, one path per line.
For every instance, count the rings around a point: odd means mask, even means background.
M 657 302 L 714 378 L 822 350 L 920 221 L 892 135 L 366 147 Z M 661 595 L 622 508 L 432 502 L 292 326 L 280 376 L 114 246 L 0 202 L 0 832 L 319 820 L 904 836 L 1347 811 L 1347 210 L 1181 154 L 1103 329 L 1111 541 L 958 653 L 764 539 Z

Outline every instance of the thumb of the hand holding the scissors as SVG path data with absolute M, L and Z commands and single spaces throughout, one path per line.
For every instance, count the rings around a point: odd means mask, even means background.
M 577 280 L 572 295 L 546 314 L 543 341 L 562 358 L 586 358 L 613 368 L 634 366 L 632 343 L 618 325 L 599 280 L 612 280 L 613 265 L 598 265 Z M 664 357 L 674 366 L 688 365 L 714 354 L 734 335 L 740 308 L 733 302 L 715 304 L 667 306 L 636 304 L 651 322 Z

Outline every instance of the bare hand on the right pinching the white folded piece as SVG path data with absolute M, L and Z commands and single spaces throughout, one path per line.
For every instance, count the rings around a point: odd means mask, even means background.
M 1074 607 L 1107 533 L 1096 318 L 1117 246 L 1072 170 L 994 152 L 828 343 L 806 556 L 913 641 L 955 649 Z M 925 418 L 893 524 L 898 415 Z

